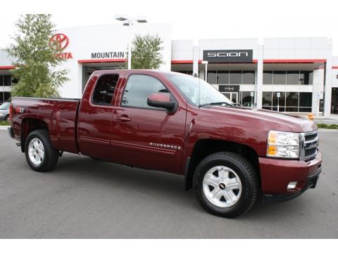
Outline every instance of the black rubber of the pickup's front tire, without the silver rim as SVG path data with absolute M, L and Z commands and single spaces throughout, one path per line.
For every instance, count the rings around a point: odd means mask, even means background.
M 249 162 L 244 160 L 244 157 L 241 157 L 243 159 L 242 162 L 240 163 L 237 162 L 236 159 L 232 158 L 234 155 L 236 154 L 232 153 L 231 156 L 217 155 L 215 157 L 211 157 L 210 159 L 203 160 L 196 168 L 194 175 L 195 193 L 202 207 L 204 207 L 204 209 L 206 209 L 211 214 L 225 217 L 234 217 L 245 212 L 248 202 L 251 202 L 251 200 L 249 200 L 250 195 L 249 192 L 253 187 L 252 183 L 256 182 L 252 182 L 249 174 L 247 173 L 248 169 L 251 169 L 248 168 L 248 165 L 250 164 Z M 217 207 L 213 205 L 204 194 L 203 190 L 204 175 L 209 169 L 215 166 L 229 167 L 239 176 L 239 179 L 241 180 L 242 183 L 241 197 L 231 207 Z

